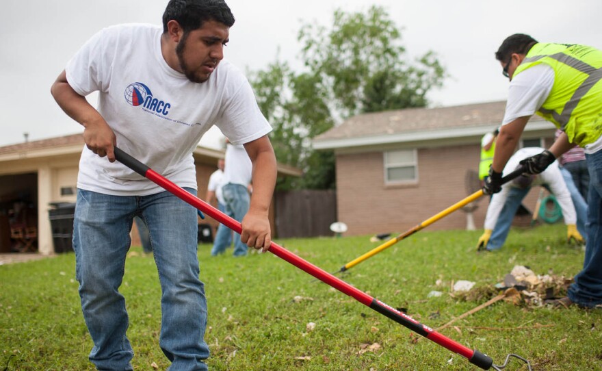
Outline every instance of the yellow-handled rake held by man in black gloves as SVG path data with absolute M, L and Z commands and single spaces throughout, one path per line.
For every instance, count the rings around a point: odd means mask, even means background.
M 523 172 L 525 172 L 525 169 L 522 167 L 517 170 L 514 170 L 513 172 L 510 172 L 510 174 L 506 175 L 506 177 L 503 177 L 501 179 L 501 183 L 502 184 L 507 183 L 508 181 L 511 181 L 512 179 L 514 179 L 516 177 L 519 177 L 519 175 L 523 174 Z M 391 240 L 384 242 L 384 244 L 373 248 L 371 251 L 368 251 L 364 255 L 361 255 L 361 257 L 356 257 L 355 259 L 350 261 L 348 264 L 345 264 L 344 266 L 342 266 L 341 269 L 339 269 L 334 274 L 345 272 L 345 270 L 348 270 L 348 269 L 360 264 L 362 261 L 365 261 L 365 260 L 369 259 L 370 257 L 373 257 L 374 255 L 380 253 L 381 251 L 384 251 L 387 248 L 393 246 L 397 242 L 404 240 L 404 238 L 407 238 L 410 235 L 413 235 L 414 233 L 416 233 L 417 231 L 420 231 L 421 229 L 426 228 L 429 225 L 432 225 L 432 223 L 436 222 L 437 220 L 441 220 L 443 217 L 448 216 L 449 214 L 455 212 L 457 209 L 460 209 L 461 207 L 468 205 L 469 203 L 478 199 L 483 194 L 484 194 L 483 190 L 477 190 L 477 192 L 474 192 L 473 194 L 468 196 L 466 199 L 463 199 L 462 201 L 458 201 L 457 203 L 454 203 L 454 205 L 447 207 L 447 209 L 443 210 L 442 212 L 439 212 L 438 214 L 431 216 L 427 220 L 424 220 L 423 222 L 421 222 L 419 225 L 415 225 L 414 227 L 408 229 L 404 233 L 397 235 L 397 237 L 391 238 Z

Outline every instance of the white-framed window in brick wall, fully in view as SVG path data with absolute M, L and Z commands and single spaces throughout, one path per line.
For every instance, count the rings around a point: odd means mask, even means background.
M 418 181 L 418 155 L 415 149 L 384 152 L 384 183 L 404 184 Z

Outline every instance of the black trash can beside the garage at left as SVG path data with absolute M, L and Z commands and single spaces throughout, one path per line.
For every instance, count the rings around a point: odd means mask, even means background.
M 54 252 L 69 253 L 73 251 L 73 218 L 75 217 L 75 203 L 51 203 L 52 209 L 48 211 Z

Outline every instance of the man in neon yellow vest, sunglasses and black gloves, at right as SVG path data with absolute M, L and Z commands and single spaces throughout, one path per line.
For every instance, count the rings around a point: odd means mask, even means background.
M 502 42 L 495 57 L 510 88 L 483 191 L 501 190 L 501 171 L 533 114 L 563 133 L 548 150 L 521 161 L 530 174 L 542 172 L 573 146 L 583 147 L 590 173 L 584 268 L 568 288 L 568 296 L 553 304 L 602 305 L 602 51 L 514 34 Z

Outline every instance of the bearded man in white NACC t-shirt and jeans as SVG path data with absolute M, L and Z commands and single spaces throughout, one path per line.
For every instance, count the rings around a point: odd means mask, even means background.
M 131 370 L 122 283 L 129 231 L 142 216 L 161 284 L 159 345 L 172 370 L 207 370 L 207 301 L 199 279 L 194 207 L 115 161 L 114 146 L 196 194 L 192 152 L 216 125 L 242 144 L 255 190 L 241 240 L 267 251 L 276 158 L 246 77 L 223 60 L 234 17 L 223 0 L 171 0 L 163 27 L 102 29 L 68 62 L 51 88 L 83 125 L 73 232 L 83 318 L 100 370 Z M 85 96 L 99 92 L 98 110 Z

